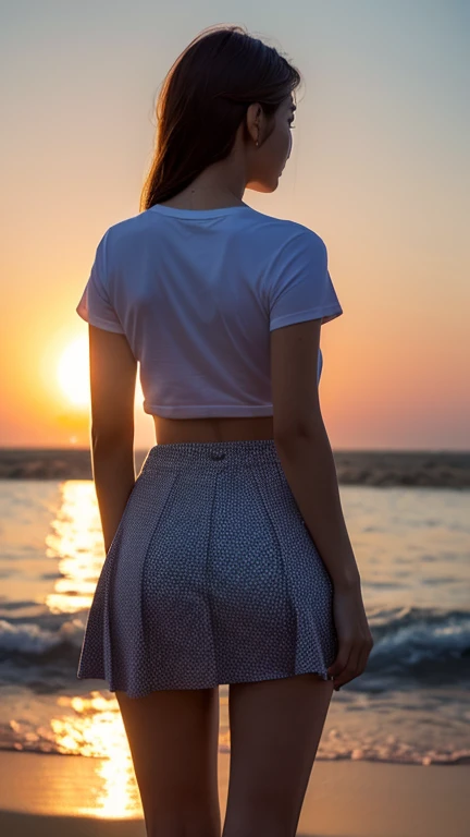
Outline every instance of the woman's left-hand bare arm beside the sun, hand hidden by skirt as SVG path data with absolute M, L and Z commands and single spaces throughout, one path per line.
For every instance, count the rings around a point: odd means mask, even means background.
M 108 553 L 135 484 L 135 360 L 122 333 L 89 325 L 91 465 Z

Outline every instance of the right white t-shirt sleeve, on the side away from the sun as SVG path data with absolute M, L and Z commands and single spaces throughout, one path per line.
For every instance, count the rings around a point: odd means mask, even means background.
M 327 269 L 326 246 L 305 228 L 282 246 L 273 263 L 270 331 L 307 319 L 329 323 L 342 314 Z

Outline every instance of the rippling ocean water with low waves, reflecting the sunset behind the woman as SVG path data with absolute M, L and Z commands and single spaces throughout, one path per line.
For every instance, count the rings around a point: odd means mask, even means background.
M 318 759 L 470 763 L 470 492 L 346 485 L 341 496 L 374 647 L 333 693 Z M 114 695 L 76 678 L 104 560 L 94 483 L 0 481 L 0 749 L 128 767 Z M 227 700 L 221 686 L 221 751 Z

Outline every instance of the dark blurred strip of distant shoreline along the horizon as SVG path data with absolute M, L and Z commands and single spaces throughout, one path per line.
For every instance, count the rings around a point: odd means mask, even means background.
M 136 474 L 148 450 L 135 450 Z M 342 485 L 470 488 L 470 451 L 333 451 Z M 92 480 L 89 448 L 0 448 L 0 480 Z

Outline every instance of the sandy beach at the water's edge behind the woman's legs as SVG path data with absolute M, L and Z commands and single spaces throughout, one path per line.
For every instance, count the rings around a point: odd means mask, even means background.
M 98 759 L 0 752 L 4 837 L 145 837 L 141 816 L 113 818 L 99 799 Z M 222 818 L 228 754 L 219 754 Z M 466 837 L 470 765 L 453 767 L 317 761 L 298 837 Z

